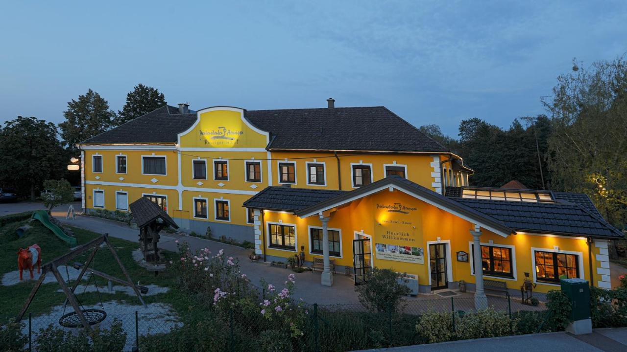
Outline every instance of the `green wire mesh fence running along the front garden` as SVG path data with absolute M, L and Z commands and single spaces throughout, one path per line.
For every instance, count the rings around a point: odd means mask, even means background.
M 184 321 L 169 313 L 155 314 L 150 307 L 137 307 L 110 313 L 92 328 L 97 327 L 101 333 L 105 331 L 109 339 L 124 339 L 119 344 L 124 351 L 198 350 L 198 346 L 204 346 L 205 350 L 248 351 L 264 343 L 274 346 L 290 344 L 290 348 L 285 346 L 285 349 L 305 352 L 346 351 L 427 343 L 416 328 L 423 314 L 449 314 L 446 316 L 450 316 L 455 330 L 460 317 L 477 310 L 477 300 L 467 296 L 406 299 L 398 308 L 383 306 L 380 309 L 369 309 L 362 304 L 318 306 L 293 301 L 282 308 L 289 312 L 277 320 L 264 315 L 266 292 L 258 287 L 257 290 L 255 294 L 258 294 L 260 304 L 221 309 L 208 306 L 207 311 L 195 312 L 192 314 L 194 318 L 186 317 Z M 534 324 L 538 330 L 545 319 L 542 304 L 529 306 L 509 296 L 488 297 L 487 304 L 495 311 L 507 314 L 512 321 L 517 319 L 520 311 L 537 311 L 535 315 L 539 318 Z M 46 345 L 46 338 L 50 336 L 46 329 L 50 326 L 73 336 L 80 334 L 82 328 L 61 327 L 60 315 L 55 311 L 29 315 L 23 326 L 29 341 L 27 350 L 55 350 Z

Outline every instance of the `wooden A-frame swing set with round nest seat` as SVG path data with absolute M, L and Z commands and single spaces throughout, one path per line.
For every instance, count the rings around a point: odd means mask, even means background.
M 122 280 L 117 277 L 110 276 L 108 274 L 105 274 L 104 272 L 97 271 L 93 269 L 92 267 L 90 267 L 90 266 L 93 266 L 93 259 L 96 256 L 96 253 L 98 252 L 98 249 L 102 246 L 102 244 L 105 244 L 105 246 L 109 249 L 113 258 L 115 259 L 118 266 L 124 273 L 126 280 Z M 70 281 L 70 275 L 67 269 L 67 265 L 66 265 L 66 274 L 68 277 L 68 282 L 66 282 L 63 279 L 63 277 L 61 277 L 58 267 L 70 262 L 75 257 L 78 257 L 81 254 L 88 252 L 90 250 L 92 250 L 92 252 L 84 264 L 80 262 L 75 262 L 73 264 L 73 267 L 75 269 L 80 269 L 80 272 L 78 273 L 78 276 L 76 277 L 71 287 L 68 287 L 69 281 Z M 28 298 L 26 299 L 26 303 L 24 304 L 23 308 L 21 309 L 18 316 L 16 317 L 16 321 L 18 322 L 21 321 L 22 318 L 24 317 L 24 314 L 26 314 L 28 307 L 33 302 L 33 299 L 35 295 L 37 294 L 37 291 L 40 289 L 41 284 L 46 278 L 46 274 L 48 274 L 48 272 L 52 272 L 52 274 L 56 278 L 56 281 L 59 283 L 59 286 L 61 286 L 61 290 L 63 290 L 63 293 L 65 293 L 65 296 L 66 296 L 65 303 L 63 304 L 63 315 L 59 319 L 59 324 L 66 328 L 79 328 L 80 326 L 82 326 L 83 328 L 87 329 L 87 331 L 91 331 L 90 327 L 92 325 L 98 324 L 102 322 L 103 320 L 105 320 L 105 318 L 107 318 L 107 312 L 104 310 L 104 305 L 102 304 L 102 298 L 100 297 L 100 291 L 98 290 L 98 283 L 96 281 L 96 276 L 100 276 L 109 281 L 115 281 L 115 282 L 118 282 L 119 284 L 123 284 L 125 286 L 131 287 L 133 291 L 135 292 L 135 295 L 137 295 L 137 298 L 139 298 L 139 301 L 142 303 L 142 305 L 144 305 L 144 307 L 146 306 L 146 304 L 144 303 L 144 299 L 142 298 L 142 293 L 145 294 L 148 292 L 147 287 L 135 286 L 135 284 L 133 284 L 133 281 L 130 279 L 129 273 L 126 271 L 124 264 L 122 264 L 122 261 L 120 261 L 120 257 L 118 257 L 117 252 L 115 252 L 115 249 L 109 242 L 108 234 L 103 234 L 102 236 L 96 239 L 93 239 L 92 241 L 87 242 L 86 244 L 83 244 L 82 246 L 76 247 L 68 254 L 65 254 L 63 256 L 53 259 L 52 261 L 43 265 L 41 267 L 41 270 L 42 270 L 41 276 L 39 277 L 38 281 L 35 283 L 33 290 L 31 291 Z M 100 299 L 100 306 L 102 309 L 96 309 L 96 308 L 85 309 L 82 303 L 80 303 L 80 301 L 76 297 L 76 294 L 74 293 L 76 290 L 76 287 L 78 287 L 78 284 L 80 284 L 80 281 L 82 280 L 83 275 L 85 275 L 85 272 L 90 272 L 90 279 L 88 279 L 87 285 L 85 285 L 85 289 L 83 289 L 83 292 L 87 290 L 87 286 L 89 285 L 90 280 L 93 278 L 94 286 L 96 288 L 96 291 L 98 292 L 98 299 Z M 70 303 L 70 306 L 74 309 L 74 311 L 65 313 L 67 303 Z

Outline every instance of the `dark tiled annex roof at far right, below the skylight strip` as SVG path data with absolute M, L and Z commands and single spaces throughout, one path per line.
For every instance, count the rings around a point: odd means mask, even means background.
M 456 198 L 483 214 L 525 232 L 622 238 L 623 234 L 584 207 L 572 203 L 525 203 L 504 200 Z

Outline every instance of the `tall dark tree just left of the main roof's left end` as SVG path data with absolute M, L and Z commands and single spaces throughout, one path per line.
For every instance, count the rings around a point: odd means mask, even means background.
M 76 144 L 105 132 L 115 118 L 115 111 L 109 110 L 107 100 L 90 89 L 79 95 L 78 101 L 72 99 L 63 116 L 65 122 L 59 124 L 61 138 L 70 150 L 76 150 Z

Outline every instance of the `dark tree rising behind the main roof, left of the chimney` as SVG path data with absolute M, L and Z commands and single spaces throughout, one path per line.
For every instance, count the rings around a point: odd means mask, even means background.
M 115 125 L 122 125 L 122 123 L 129 122 L 164 105 L 166 105 L 166 98 L 163 93 L 139 83 L 134 90 L 126 95 L 126 104 L 122 111 L 118 111 Z

